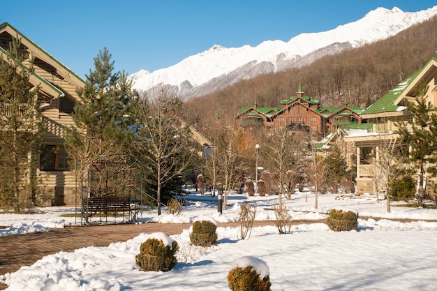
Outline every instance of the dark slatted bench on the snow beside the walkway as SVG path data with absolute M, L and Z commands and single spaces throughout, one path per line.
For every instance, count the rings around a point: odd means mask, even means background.
M 82 214 L 86 223 L 90 223 L 89 218 L 94 214 L 99 214 L 99 222 L 102 222 L 102 214 L 104 214 L 105 221 L 108 222 L 108 214 L 114 216 L 114 221 L 117 214 L 122 214 L 123 222 L 125 214 L 128 214 L 129 222 L 136 221 L 138 208 L 132 207 L 131 200 L 128 197 L 90 197 L 82 199 Z

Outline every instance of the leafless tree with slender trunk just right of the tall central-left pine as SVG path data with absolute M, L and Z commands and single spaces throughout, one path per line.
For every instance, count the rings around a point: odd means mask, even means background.
M 189 128 L 177 116 L 180 99 L 161 89 L 154 100 L 140 105 L 138 133 L 132 142 L 135 156 L 146 171 L 149 190 L 156 193 L 161 215 L 163 188 L 181 176 L 196 154 Z

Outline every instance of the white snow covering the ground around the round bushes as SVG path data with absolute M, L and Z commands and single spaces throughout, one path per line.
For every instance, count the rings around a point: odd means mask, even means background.
M 290 234 L 274 226 L 254 227 L 251 237 L 238 239 L 235 227 L 218 227 L 218 245 L 192 246 L 189 230 L 171 238 L 179 244 L 178 264 L 169 272 L 144 272 L 135 266 L 140 244 L 151 235 L 108 247 L 80 248 L 73 253 L 47 255 L 32 266 L 0 275 L 7 290 L 229 290 L 228 271 L 240 258 L 251 256 L 269 268 L 272 290 L 437 290 L 437 209 L 396 207 L 386 212 L 385 201 L 372 197 L 296 193 L 286 201 L 293 219 L 318 220 L 329 209 L 357 211 L 369 218 L 357 230 L 333 232 L 324 223 L 294 225 Z M 285 200 L 284 200 L 285 201 Z M 239 205 L 257 206 L 257 220 L 274 220 L 277 196 L 231 195 L 228 209 L 219 214 L 216 197 L 186 196 L 180 216 L 143 211 L 142 222 L 192 223 L 205 217 L 217 222 L 237 221 Z M 0 214 L 0 236 L 50 231 L 50 227 L 80 223 L 61 217 L 74 208 L 47 207 L 38 214 Z M 400 223 L 391 218 L 413 218 Z

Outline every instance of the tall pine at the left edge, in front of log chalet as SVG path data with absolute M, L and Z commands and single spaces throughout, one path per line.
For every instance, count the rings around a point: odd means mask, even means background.
M 34 67 L 20 39 L 0 56 L 0 204 L 15 212 L 36 202 L 36 149 L 44 133 L 38 87 L 29 82 Z

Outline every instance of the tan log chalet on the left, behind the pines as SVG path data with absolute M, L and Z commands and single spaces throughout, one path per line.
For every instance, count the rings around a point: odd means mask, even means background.
M 41 186 L 52 191 L 52 204 L 75 204 L 75 177 L 69 170 L 68 156 L 65 151 L 53 149 L 64 142 L 64 128 L 74 124 L 71 114 L 78 100 L 76 89 L 84 87 L 85 82 L 8 23 L 0 24 L 0 55 L 3 59 L 8 59 L 7 50 L 14 38 L 20 38 L 21 49 L 34 58 L 35 73 L 30 82 L 40 87 L 38 99 L 46 124 L 45 147 L 39 157 L 38 170 L 33 174 L 41 179 Z M 29 59 L 23 65 L 29 67 Z

